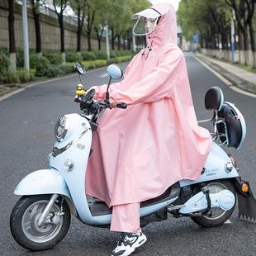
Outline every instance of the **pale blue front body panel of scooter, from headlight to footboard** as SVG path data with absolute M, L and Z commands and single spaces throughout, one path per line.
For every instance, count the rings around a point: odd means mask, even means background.
M 85 189 L 85 175 L 92 145 L 92 130 L 86 118 L 78 114 L 65 115 L 67 133 L 63 141 L 56 141 L 55 149 L 62 151 L 50 154 L 50 166 L 63 176 L 80 220 L 95 224 L 88 207 Z M 57 152 L 58 152 L 57 150 Z M 55 151 L 55 150 L 54 150 Z M 67 160 L 73 168 L 67 166 Z

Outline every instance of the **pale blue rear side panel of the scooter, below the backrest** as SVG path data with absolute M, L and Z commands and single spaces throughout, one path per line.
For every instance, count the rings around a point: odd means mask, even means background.
M 204 170 L 197 180 L 181 180 L 180 187 L 189 186 L 196 183 L 203 183 L 207 181 L 225 179 L 225 178 L 235 178 L 239 177 L 235 167 L 232 168 L 230 172 L 225 171 L 225 164 L 231 163 L 230 157 L 225 153 L 219 145 L 215 142 L 211 145 L 211 152 L 209 153 Z

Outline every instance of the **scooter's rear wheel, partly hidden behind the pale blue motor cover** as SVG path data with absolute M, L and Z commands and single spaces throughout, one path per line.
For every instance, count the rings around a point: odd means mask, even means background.
M 233 183 L 230 181 L 214 181 L 211 183 L 206 183 L 206 187 L 209 188 L 210 193 L 216 193 L 220 192 L 221 190 L 228 189 L 230 192 L 232 192 L 235 196 L 235 203 L 236 203 L 236 192 L 235 187 Z M 197 223 L 197 225 L 201 225 L 203 227 L 214 227 L 218 225 L 223 225 L 226 220 L 230 218 L 233 211 L 235 210 L 235 204 L 234 206 L 228 210 L 224 211 L 217 208 L 211 208 L 209 213 L 206 213 L 202 216 L 197 217 L 191 217 L 191 219 Z

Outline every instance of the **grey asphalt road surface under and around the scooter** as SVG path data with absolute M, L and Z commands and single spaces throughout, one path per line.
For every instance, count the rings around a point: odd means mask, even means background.
M 235 102 L 243 113 L 247 139 L 239 151 L 227 151 L 235 155 L 240 174 L 249 179 L 256 194 L 256 98 L 228 88 L 192 55 L 186 59 L 198 119 L 210 116 L 204 108 L 204 95 L 216 85 L 223 90 L 225 100 Z M 84 84 L 90 87 L 106 83 L 104 73 L 105 69 L 89 71 L 83 77 Z M 9 230 L 9 216 L 18 199 L 13 195 L 14 188 L 26 174 L 48 167 L 47 154 L 54 144 L 55 122 L 64 113 L 79 111 L 73 102 L 77 83 L 77 75 L 42 83 L 0 102 L 0 255 L 109 255 L 116 246 L 118 234 L 83 225 L 74 218 L 60 244 L 44 252 L 22 249 Z M 237 210 L 230 223 L 216 228 L 204 229 L 189 218 L 170 217 L 148 225 L 144 232 L 148 242 L 135 255 L 256 255 L 256 224 L 239 220 Z

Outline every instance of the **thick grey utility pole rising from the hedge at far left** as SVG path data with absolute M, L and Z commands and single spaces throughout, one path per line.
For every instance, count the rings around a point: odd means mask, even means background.
M 22 26 L 23 26 L 23 50 L 24 50 L 24 65 L 25 69 L 30 69 L 30 56 L 28 45 L 28 29 L 27 29 L 27 12 L 26 12 L 26 0 L 22 3 Z

